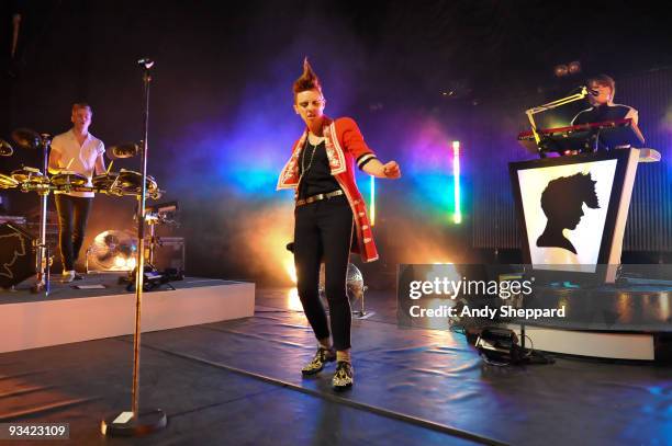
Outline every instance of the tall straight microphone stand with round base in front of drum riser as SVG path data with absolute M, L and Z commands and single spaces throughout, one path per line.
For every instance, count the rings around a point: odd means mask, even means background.
M 152 75 L 149 70 L 154 61 L 148 58 L 139 59 L 138 65 L 143 69 L 143 82 L 145 85 L 145 116 L 144 135 L 141 153 L 142 187 L 137 206 L 137 253 L 135 272 L 135 336 L 133 342 L 133 387 L 131 391 L 131 411 L 121 412 L 102 421 L 101 431 L 110 436 L 141 436 L 165 428 L 168 420 L 166 413 L 160 409 L 139 409 L 139 347 L 141 347 L 141 319 L 143 302 L 143 278 L 145 273 L 145 198 L 147 195 L 147 156 L 149 134 L 149 82 Z

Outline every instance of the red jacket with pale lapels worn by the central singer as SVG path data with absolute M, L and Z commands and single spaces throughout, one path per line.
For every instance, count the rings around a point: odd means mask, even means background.
M 373 242 L 373 232 L 367 217 L 363 198 L 355 182 L 355 163 L 358 167 L 376 158 L 373 151 L 367 146 L 359 131 L 357 123 L 349 117 L 339 117 L 332 121 L 325 116 L 323 124 L 325 147 L 332 175 L 336 179 L 340 188 L 348 198 L 357 232 L 357 245 L 352 252 L 359 253 L 363 262 L 378 260 L 378 250 Z M 282 168 L 278 180 L 278 190 L 293 188 L 298 191 L 299 185 L 299 157 L 307 138 L 307 129 L 292 147 L 292 156 Z

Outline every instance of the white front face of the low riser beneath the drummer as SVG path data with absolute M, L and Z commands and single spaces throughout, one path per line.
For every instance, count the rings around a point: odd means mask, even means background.
M 143 295 L 142 329 L 157 331 L 248 318 L 255 284 L 160 290 Z M 133 334 L 135 294 L 5 304 L 0 353 Z

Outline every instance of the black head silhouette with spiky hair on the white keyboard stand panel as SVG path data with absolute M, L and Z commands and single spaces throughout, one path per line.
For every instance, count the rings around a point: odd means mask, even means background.
M 551 180 L 541 193 L 541 209 L 548 218 L 546 228 L 537 239 L 539 248 L 562 248 L 576 254 L 576 249 L 562 231 L 576 229 L 583 217 L 583 204 L 600 208 L 595 181 L 590 173 L 576 173 Z

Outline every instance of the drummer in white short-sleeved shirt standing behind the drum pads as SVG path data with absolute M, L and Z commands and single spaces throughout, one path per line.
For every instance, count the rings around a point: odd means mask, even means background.
M 92 115 L 89 104 L 72 104 L 72 128 L 52 140 L 49 173 L 74 172 L 86 176 L 87 185 L 91 186 L 93 174 L 105 172 L 105 147 L 89 133 Z M 63 282 L 82 278 L 75 272 L 75 262 L 83 242 L 93 195 L 93 192 L 75 191 L 55 193 Z

